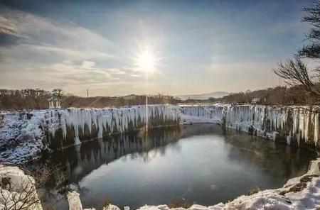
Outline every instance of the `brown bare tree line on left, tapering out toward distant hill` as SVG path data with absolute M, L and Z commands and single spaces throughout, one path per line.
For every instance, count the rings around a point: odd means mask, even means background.
M 63 108 L 83 107 L 102 108 L 106 106 L 133 106 L 146 104 L 146 96 L 95 96 L 81 97 L 65 94 L 62 89 L 47 91 L 43 89 L 0 89 L 0 110 L 48 109 L 51 96 L 60 99 Z M 175 96 L 156 94 L 148 96 L 148 104 L 178 104 Z

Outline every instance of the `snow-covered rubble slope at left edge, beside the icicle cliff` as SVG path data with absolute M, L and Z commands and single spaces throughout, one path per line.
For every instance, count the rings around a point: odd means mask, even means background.
M 48 149 L 41 128 L 44 114 L 45 111 L 4 114 L 2 122 L 0 120 L 0 163 L 33 160 Z

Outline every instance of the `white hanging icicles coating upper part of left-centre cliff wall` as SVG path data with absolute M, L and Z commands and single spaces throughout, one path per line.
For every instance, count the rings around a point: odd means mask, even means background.
M 54 137 L 55 131 L 61 128 L 63 138 L 66 138 L 68 128 L 74 131 L 75 145 L 80 143 L 80 133 L 89 133 L 97 130 L 97 138 L 102 138 L 103 133 L 123 133 L 143 128 L 146 122 L 150 127 L 178 124 L 179 111 L 172 105 L 130 106 L 122 108 L 104 109 L 65 109 L 53 113 L 59 117 L 59 125 L 52 126 L 49 133 Z

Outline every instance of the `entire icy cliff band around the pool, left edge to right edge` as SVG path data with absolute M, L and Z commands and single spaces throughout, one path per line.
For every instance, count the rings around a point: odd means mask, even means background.
M 149 105 L 105 109 L 48 109 L 0 114 L 0 158 L 7 164 L 38 157 L 43 150 L 159 126 L 219 123 L 224 128 L 287 144 L 319 148 L 317 107 L 214 104 Z

